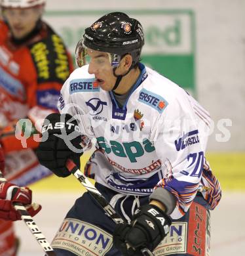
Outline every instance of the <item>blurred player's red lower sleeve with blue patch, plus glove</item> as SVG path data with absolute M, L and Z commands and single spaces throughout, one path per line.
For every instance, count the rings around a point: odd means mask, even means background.
M 37 83 L 33 81 L 33 84 Z M 32 86 L 33 86 L 32 84 Z M 6 127 L 0 130 L 0 142 L 5 154 L 8 152 L 22 150 L 23 148 L 37 148 L 39 144 L 39 133 L 43 120 L 48 114 L 58 112 L 56 104 L 60 95 L 62 84 L 45 83 L 36 85 L 34 89 L 29 86 L 28 106 L 26 117 L 14 119 Z M 40 96 L 46 95 L 46 96 Z M 25 144 L 23 144 L 25 141 Z

